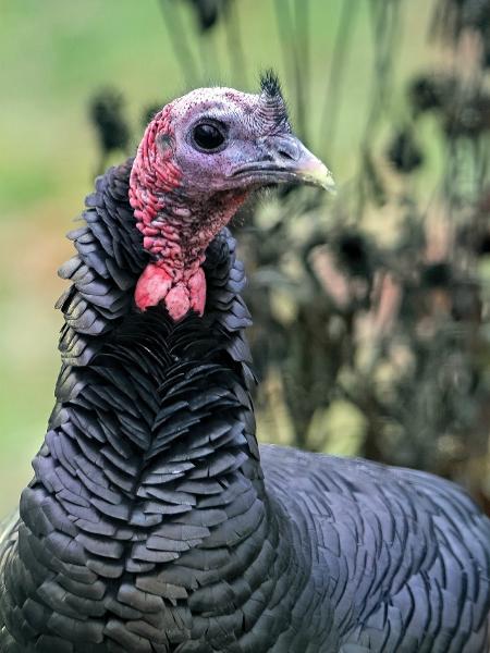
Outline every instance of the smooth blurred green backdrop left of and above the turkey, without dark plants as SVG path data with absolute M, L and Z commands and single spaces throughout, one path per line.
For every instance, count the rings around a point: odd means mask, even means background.
M 324 157 L 341 186 L 358 164 L 373 65 L 367 3 L 354 0 L 355 33 L 342 71 L 342 99 L 330 147 L 323 134 L 324 88 L 345 2 L 310 2 L 311 86 L 306 102 L 310 146 Z M 403 112 L 404 82 L 434 57 L 427 42 L 432 9 L 433 2 L 426 0 L 411 0 L 404 5 L 403 32 L 396 42 L 396 78 L 384 107 L 388 114 Z M 246 0 L 237 2 L 235 10 L 246 58 L 241 79 L 224 67 L 228 60 L 220 56 L 226 48 L 222 26 L 217 27 L 216 51 L 193 38 L 195 16 L 191 11 L 184 13 L 185 26 L 192 48 L 204 63 L 200 79 L 255 89 L 260 70 L 273 66 L 284 73 L 274 3 Z M 97 167 L 88 100 L 99 88 L 115 86 L 127 100 L 134 132 L 140 134 L 143 107 L 163 103 L 183 93 L 188 81 L 174 57 L 157 0 L 0 0 L 0 61 L 3 514 L 15 505 L 30 478 L 29 461 L 41 444 L 53 404 L 61 316 L 52 307 L 63 289 L 56 271 L 71 256 L 64 233 L 82 210 Z M 429 164 L 437 167 L 438 157 L 437 148 L 432 148 Z M 415 183 L 424 187 L 425 180 Z

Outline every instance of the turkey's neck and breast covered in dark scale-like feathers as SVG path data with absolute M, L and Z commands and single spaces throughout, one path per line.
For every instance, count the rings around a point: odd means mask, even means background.
M 270 602 L 294 600 L 294 560 L 259 464 L 234 241 L 223 231 L 208 248 L 203 319 L 135 310 L 145 256 L 127 230 L 127 174 L 99 181 L 61 271 L 73 282 L 59 303 L 64 364 L 20 550 L 39 587 L 59 586 L 69 641 L 82 619 L 87 641 L 145 652 L 142 637 L 203 641 L 217 618 L 225 640 L 267 620 Z

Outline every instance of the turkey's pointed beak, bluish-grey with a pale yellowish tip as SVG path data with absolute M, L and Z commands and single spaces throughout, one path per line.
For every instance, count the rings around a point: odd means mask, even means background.
M 330 170 L 292 134 L 258 141 L 257 160 L 234 171 L 235 178 L 256 184 L 307 184 L 335 193 Z

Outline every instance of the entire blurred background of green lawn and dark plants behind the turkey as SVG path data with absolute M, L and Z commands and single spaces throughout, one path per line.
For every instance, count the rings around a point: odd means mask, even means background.
M 489 4 L 0 0 L 0 510 L 51 409 L 56 269 L 94 174 L 167 99 L 256 90 L 268 66 L 340 193 L 269 193 L 235 220 L 260 436 L 489 501 Z

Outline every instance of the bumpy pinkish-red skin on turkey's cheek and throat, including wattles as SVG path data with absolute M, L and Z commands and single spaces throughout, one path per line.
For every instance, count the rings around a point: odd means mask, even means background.
M 203 189 L 196 197 L 192 192 L 187 196 L 188 181 L 184 181 L 174 157 L 173 109 L 173 102 L 164 107 L 146 130 L 133 164 L 130 201 L 143 245 L 152 255 L 136 285 L 136 306 L 144 311 L 163 303 L 179 321 L 191 309 L 204 313 L 206 278 L 200 266 L 206 247 L 245 194 L 229 190 L 207 195 Z M 181 113 L 183 110 L 185 106 L 180 107 Z M 203 171 L 193 172 L 196 177 L 204 176 Z M 206 180 L 199 178 L 199 183 L 205 188 Z

